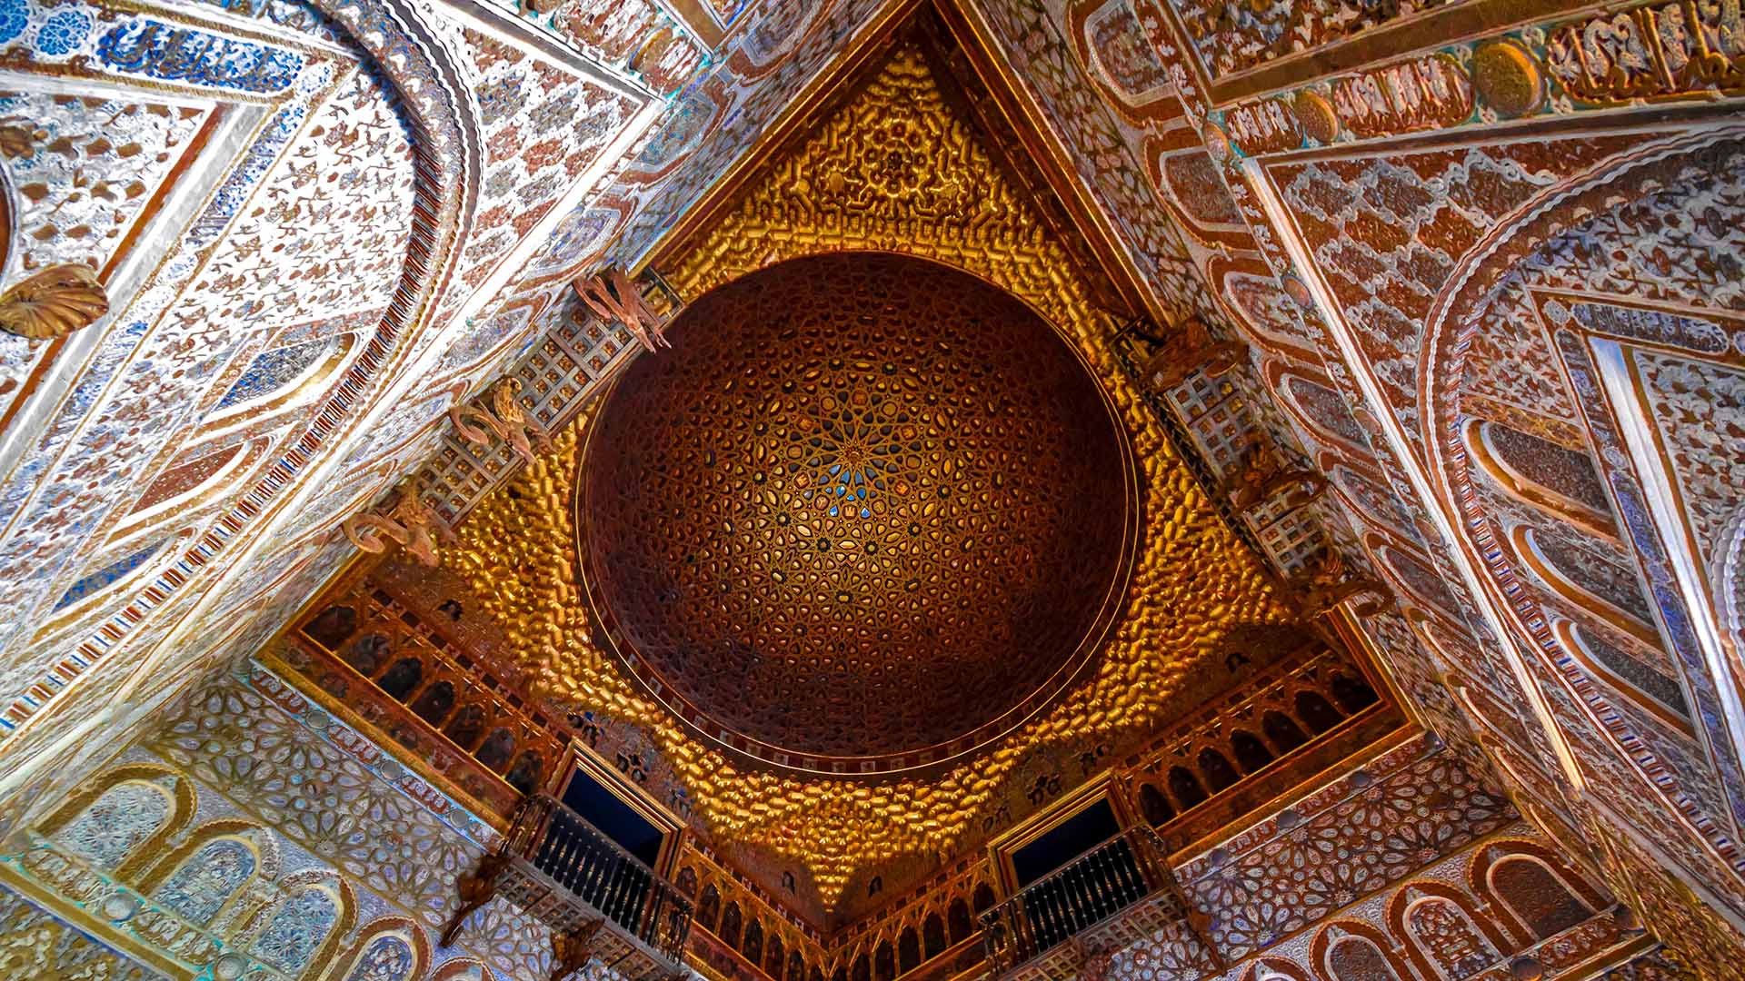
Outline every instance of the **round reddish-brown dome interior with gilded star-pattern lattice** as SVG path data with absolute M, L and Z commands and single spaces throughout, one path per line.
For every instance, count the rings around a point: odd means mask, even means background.
M 1077 677 L 1124 593 L 1131 463 L 1030 307 L 829 253 L 710 292 L 668 339 L 600 407 L 576 497 L 606 637 L 663 702 L 862 772 L 967 752 Z

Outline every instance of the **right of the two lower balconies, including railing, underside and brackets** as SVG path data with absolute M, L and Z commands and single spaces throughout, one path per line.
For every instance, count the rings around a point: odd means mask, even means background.
M 988 976 L 1002 981 L 1077 978 L 1105 951 L 1169 923 L 1202 937 L 1157 831 L 1136 826 L 1096 845 L 981 915 Z

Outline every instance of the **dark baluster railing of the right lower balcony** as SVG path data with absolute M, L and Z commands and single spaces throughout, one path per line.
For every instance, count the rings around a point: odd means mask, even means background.
M 1023 967 L 1166 890 L 1178 899 L 1157 833 L 1129 827 L 982 913 L 988 967 Z

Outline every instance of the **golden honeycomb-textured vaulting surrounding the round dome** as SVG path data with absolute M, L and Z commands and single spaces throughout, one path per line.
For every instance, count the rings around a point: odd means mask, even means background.
M 914 152 L 878 152 L 899 138 Z M 946 108 L 913 49 L 899 49 L 853 101 L 756 178 L 670 279 L 700 297 L 773 260 L 841 250 L 937 258 L 1026 300 L 1078 346 L 1133 435 L 1146 524 L 1129 604 L 1098 663 L 1052 709 L 925 777 L 867 784 L 736 763 L 691 735 L 592 639 L 571 513 L 576 429 L 489 497 L 443 550 L 443 562 L 534 662 L 539 695 L 647 726 L 686 780 L 695 819 L 724 843 L 810 875 L 832 916 L 864 908 L 872 875 L 883 878 L 883 895 L 895 894 L 937 871 L 941 854 L 982 841 L 1002 812 L 1024 813 L 1038 766 L 1070 785 L 1082 779 L 1080 754 L 1106 749 L 1103 759 L 1117 758 L 1192 710 L 1228 679 L 1218 649 L 1227 630 L 1288 620 L 1139 405 L 1110 347 L 1108 319 L 1091 307 L 1064 250 Z

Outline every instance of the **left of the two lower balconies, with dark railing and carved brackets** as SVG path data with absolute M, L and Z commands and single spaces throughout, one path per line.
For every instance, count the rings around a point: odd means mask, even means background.
M 475 909 L 503 897 L 551 929 L 553 981 L 590 958 L 623 978 L 653 981 L 684 972 L 691 901 L 544 794 L 522 803 L 503 845 L 459 885 L 462 904 L 443 932 L 443 944 L 454 941 Z

